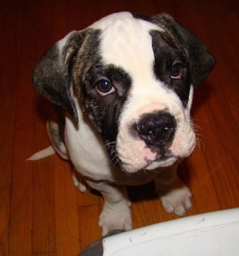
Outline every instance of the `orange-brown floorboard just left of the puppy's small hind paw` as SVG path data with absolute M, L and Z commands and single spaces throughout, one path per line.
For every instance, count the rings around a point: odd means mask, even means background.
M 55 155 L 55 225 L 57 255 L 77 255 L 79 244 L 79 215 L 71 166 Z

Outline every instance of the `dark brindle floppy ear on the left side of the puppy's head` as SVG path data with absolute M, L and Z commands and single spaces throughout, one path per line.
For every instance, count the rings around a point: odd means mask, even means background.
M 32 73 L 36 89 L 49 101 L 63 107 L 78 123 L 71 67 L 81 48 L 85 31 L 72 31 L 46 51 Z

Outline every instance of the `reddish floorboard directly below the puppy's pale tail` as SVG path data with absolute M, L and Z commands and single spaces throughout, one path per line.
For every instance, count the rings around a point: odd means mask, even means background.
M 32 251 L 56 251 L 53 159 L 33 163 Z

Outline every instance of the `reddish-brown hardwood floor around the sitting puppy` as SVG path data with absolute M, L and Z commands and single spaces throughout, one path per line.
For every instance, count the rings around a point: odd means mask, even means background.
M 100 238 L 102 199 L 81 194 L 57 155 L 26 162 L 49 145 L 49 103 L 31 83 L 40 56 L 72 29 L 129 10 L 168 12 L 214 53 L 217 64 L 195 92 L 195 152 L 179 175 L 193 192 L 188 215 L 239 207 L 239 1 L 0 1 L 0 255 L 77 255 Z M 134 228 L 176 218 L 152 184 L 130 188 Z

